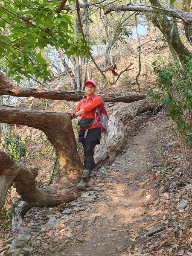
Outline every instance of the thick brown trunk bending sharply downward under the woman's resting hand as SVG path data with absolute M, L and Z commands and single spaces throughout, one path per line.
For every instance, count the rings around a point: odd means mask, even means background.
M 55 147 L 61 172 L 65 173 L 67 170 L 81 172 L 75 135 L 71 119 L 67 114 L 0 106 L 0 122 L 27 125 L 43 131 Z

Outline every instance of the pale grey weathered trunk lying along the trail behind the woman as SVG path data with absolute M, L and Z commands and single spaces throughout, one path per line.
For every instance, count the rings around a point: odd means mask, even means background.
M 153 111 L 157 108 L 158 103 L 149 104 L 146 100 L 119 104 L 119 108 L 114 111 L 109 120 L 108 139 L 105 144 L 98 146 L 95 154 L 96 167 L 103 164 L 111 164 L 116 157 L 116 154 L 125 144 L 125 129 L 124 126 L 128 121 L 134 119 L 141 113 Z

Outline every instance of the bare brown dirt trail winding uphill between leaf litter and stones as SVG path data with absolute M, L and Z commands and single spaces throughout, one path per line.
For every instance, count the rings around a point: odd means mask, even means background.
M 128 138 L 124 152 L 113 164 L 98 171 L 96 183 L 100 189 L 96 192 L 96 201 L 89 203 L 90 209 L 76 212 L 81 223 L 78 223 L 78 236 L 74 236 L 80 239 L 72 239 L 71 244 L 63 244 L 61 239 L 62 249 L 58 255 L 127 255 L 124 252 L 135 241 L 137 244 L 138 239 L 140 243 L 145 241 L 143 227 L 154 215 L 146 208 L 156 196 L 150 181 L 153 176 L 150 170 L 159 164 L 155 145 L 170 125 L 167 117 L 151 117 L 139 134 Z M 160 135 L 157 137 L 157 134 Z M 155 214 L 163 215 L 163 212 L 156 211 Z M 90 220 L 87 221 L 86 216 Z M 68 224 L 68 228 L 75 229 L 74 223 Z

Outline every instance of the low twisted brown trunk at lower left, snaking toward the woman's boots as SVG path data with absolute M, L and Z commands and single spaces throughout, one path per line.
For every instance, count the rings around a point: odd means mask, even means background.
M 15 163 L 7 154 L 0 151 L 0 210 L 3 207 L 11 183 L 25 204 L 21 216 L 32 207 L 51 207 L 63 202 L 70 202 L 81 195 L 81 189 L 70 180 L 69 184 L 56 183 L 44 189 L 38 189 L 32 171 L 20 163 Z M 77 182 L 77 178 L 76 178 Z

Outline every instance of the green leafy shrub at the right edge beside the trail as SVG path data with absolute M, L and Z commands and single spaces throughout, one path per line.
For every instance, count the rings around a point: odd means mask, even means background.
M 175 122 L 175 131 L 180 140 L 181 151 L 185 168 L 191 171 L 192 148 L 192 57 L 182 67 L 180 64 L 154 65 L 157 75 L 156 87 L 150 88 L 148 93 L 167 108 L 168 115 Z M 186 164 L 186 151 L 189 157 L 189 166 Z

